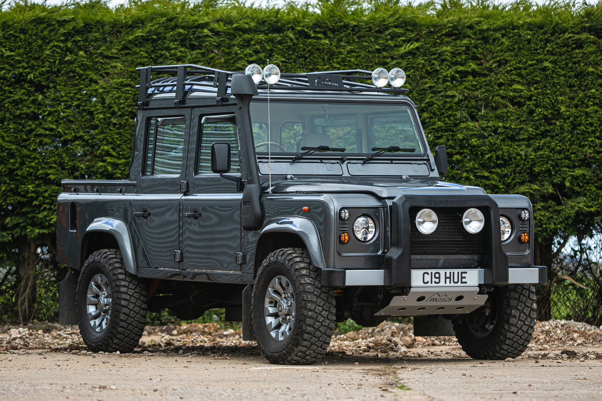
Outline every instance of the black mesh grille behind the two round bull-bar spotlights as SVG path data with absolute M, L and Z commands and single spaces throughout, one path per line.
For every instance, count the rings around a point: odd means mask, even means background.
M 422 234 L 416 228 L 416 215 L 423 208 L 411 207 L 410 247 L 412 254 L 483 255 L 485 253 L 485 229 L 470 234 L 462 226 L 462 214 L 467 208 L 432 208 L 439 223 L 431 234 Z

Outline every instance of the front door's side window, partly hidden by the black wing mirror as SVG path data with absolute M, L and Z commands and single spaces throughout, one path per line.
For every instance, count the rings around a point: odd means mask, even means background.
M 231 122 L 205 122 L 200 126 L 199 161 L 197 174 L 209 174 L 211 171 L 211 145 L 215 142 L 228 142 L 231 149 L 231 173 L 240 173 L 240 149 L 238 131 Z

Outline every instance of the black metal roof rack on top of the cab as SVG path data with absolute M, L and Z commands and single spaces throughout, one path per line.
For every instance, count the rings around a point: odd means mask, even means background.
M 144 105 L 149 90 L 152 92 L 176 92 L 175 104 L 182 104 L 184 93 L 192 87 L 217 88 L 216 97 L 224 98 L 230 87 L 232 75 L 244 74 L 242 71 L 226 71 L 211 67 L 197 66 L 196 64 L 176 64 L 172 66 L 138 67 L 140 71 L 140 85 L 138 92 L 138 106 Z M 152 73 L 170 74 L 166 78 L 152 81 Z M 338 75 L 343 79 L 343 88 L 315 88 L 310 87 L 309 74 Z M 281 73 L 281 78 L 276 84 L 269 85 L 272 90 L 317 90 L 326 92 L 381 92 L 381 93 L 408 93 L 408 89 L 377 88 L 374 85 L 354 81 L 367 81 L 372 79 L 372 72 L 367 70 L 337 70 L 316 71 L 306 73 Z M 257 89 L 268 89 L 264 81 L 257 84 Z

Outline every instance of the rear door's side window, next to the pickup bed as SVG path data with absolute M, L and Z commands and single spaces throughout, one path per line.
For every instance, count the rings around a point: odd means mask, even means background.
M 146 132 L 144 175 L 179 175 L 185 117 L 152 117 Z

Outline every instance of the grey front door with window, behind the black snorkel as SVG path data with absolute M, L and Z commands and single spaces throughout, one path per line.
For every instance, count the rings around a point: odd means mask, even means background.
M 240 252 L 243 194 L 237 192 L 236 182 L 211 171 L 211 145 L 228 142 L 232 152 L 232 168 L 228 175 L 241 176 L 240 141 L 234 110 L 222 108 L 219 117 L 207 116 L 202 109 L 193 111 L 188 193 L 182 200 L 182 269 L 240 272 L 242 260 L 238 255 L 237 261 L 237 253 Z

